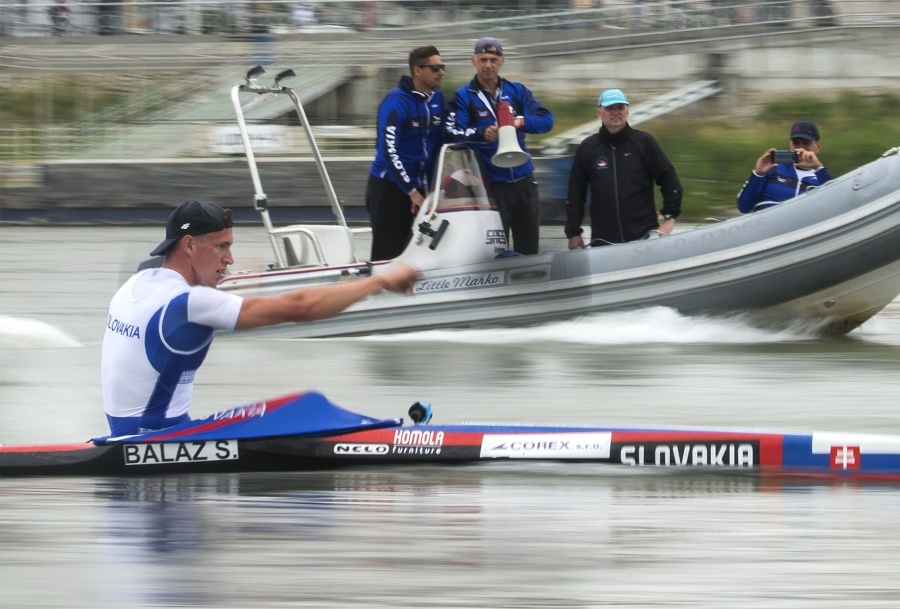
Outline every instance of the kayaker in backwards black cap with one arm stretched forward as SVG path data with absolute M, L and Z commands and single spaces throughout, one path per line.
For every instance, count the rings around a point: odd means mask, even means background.
M 216 289 L 234 263 L 231 211 L 188 201 L 169 215 L 151 256 L 160 268 L 133 275 L 109 305 L 100 374 L 113 435 L 171 427 L 189 419 L 194 375 L 216 330 L 247 330 L 337 315 L 381 290 L 411 293 L 416 271 L 398 265 L 376 276 L 273 296 Z

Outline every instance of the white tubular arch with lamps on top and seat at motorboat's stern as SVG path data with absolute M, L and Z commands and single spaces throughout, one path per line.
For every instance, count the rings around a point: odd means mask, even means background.
M 328 169 L 325 167 L 322 153 L 316 143 L 316 138 L 306 117 L 303 104 L 291 87 L 281 85 L 283 79 L 294 76 L 294 71 L 284 70 L 279 72 L 271 85 L 260 84 L 257 81 L 258 77 L 264 73 L 265 69 L 262 66 L 256 66 L 249 70 L 245 82 L 232 87 L 231 101 L 234 106 L 235 118 L 237 119 L 247 165 L 250 169 L 250 177 L 253 181 L 253 206 L 260 214 L 275 254 L 275 263 L 270 265 L 270 268 L 282 269 L 297 266 L 331 266 L 358 263 L 355 236 L 361 232 L 368 232 L 369 229 L 352 229 L 348 226 L 344 217 L 343 207 L 334 191 L 334 186 L 328 175 Z M 241 104 L 242 93 L 253 93 L 257 96 L 287 95 L 291 99 L 297 112 L 297 117 L 300 120 L 300 125 L 303 127 L 306 139 L 309 142 L 310 151 L 319 171 L 319 176 L 325 187 L 326 197 L 334 213 L 335 224 L 294 224 L 279 228 L 272 224 L 272 219 L 269 215 L 268 197 L 263 190 L 256 156 L 253 152 L 247 121 L 244 116 L 244 106 Z

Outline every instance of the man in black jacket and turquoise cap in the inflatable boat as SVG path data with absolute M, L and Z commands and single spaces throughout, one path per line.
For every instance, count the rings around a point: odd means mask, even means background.
M 681 213 L 682 188 L 675 168 L 656 139 L 628 124 L 628 99 L 619 89 L 598 100 L 600 131 L 578 146 L 569 174 L 566 237 L 569 249 L 584 247 L 581 222 L 588 186 L 591 190 L 591 245 L 667 235 Z M 663 203 L 656 214 L 653 185 Z

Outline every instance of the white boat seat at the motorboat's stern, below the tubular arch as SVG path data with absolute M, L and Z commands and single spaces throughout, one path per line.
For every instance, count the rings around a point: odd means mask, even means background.
M 292 224 L 272 230 L 288 266 L 356 264 L 353 232 L 344 226 Z

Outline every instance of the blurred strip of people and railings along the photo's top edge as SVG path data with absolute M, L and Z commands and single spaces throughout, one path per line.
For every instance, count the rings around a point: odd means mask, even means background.
M 509 29 L 835 25 L 839 13 L 896 13 L 881 6 L 892 4 L 897 0 L 0 0 L 0 34 L 287 34 L 485 19 L 503 19 Z

